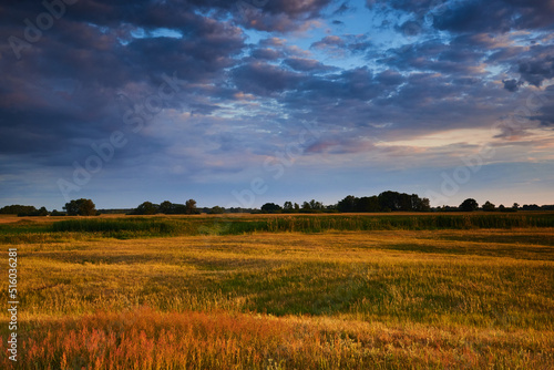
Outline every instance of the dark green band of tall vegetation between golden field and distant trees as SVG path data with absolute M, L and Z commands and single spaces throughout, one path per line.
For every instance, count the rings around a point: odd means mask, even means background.
M 0 243 L 48 243 L 69 239 L 120 239 L 252 233 L 322 233 L 369 230 L 512 229 L 554 227 L 554 213 L 419 215 L 244 215 L 189 217 L 72 218 L 0 225 Z

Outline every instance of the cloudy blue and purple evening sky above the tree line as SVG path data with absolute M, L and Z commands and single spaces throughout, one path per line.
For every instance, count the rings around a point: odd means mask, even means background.
M 554 204 L 552 0 L 47 0 L 0 17 L 0 207 Z

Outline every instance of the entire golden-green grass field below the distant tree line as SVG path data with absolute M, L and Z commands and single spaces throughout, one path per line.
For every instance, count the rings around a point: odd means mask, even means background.
M 553 220 L 3 217 L 0 368 L 552 369 Z

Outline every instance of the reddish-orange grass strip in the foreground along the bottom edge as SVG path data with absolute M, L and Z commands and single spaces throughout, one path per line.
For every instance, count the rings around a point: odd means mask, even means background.
M 18 369 L 550 369 L 552 332 L 138 308 L 27 322 Z M 6 352 L 6 343 L 0 342 Z M 0 367 L 9 369 L 7 357 Z

